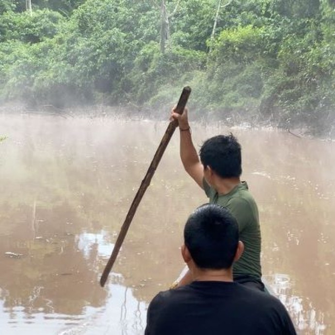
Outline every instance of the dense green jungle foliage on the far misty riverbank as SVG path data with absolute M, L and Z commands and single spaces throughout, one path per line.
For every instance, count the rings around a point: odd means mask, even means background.
M 335 134 L 335 0 L 0 0 L 0 102 Z M 157 109 L 157 110 L 156 110 Z

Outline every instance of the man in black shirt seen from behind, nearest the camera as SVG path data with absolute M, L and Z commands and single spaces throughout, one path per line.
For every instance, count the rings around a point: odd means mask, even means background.
M 296 335 L 277 298 L 233 282 L 232 264 L 242 252 L 237 222 L 226 209 L 197 208 L 182 247 L 193 282 L 153 298 L 145 335 Z

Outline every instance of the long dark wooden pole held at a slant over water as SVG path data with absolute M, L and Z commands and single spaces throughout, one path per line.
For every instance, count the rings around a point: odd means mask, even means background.
M 186 102 L 188 100 L 188 97 L 191 93 L 191 88 L 189 86 L 185 86 L 183 89 L 183 92 L 179 98 L 177 107 L 176 107 L 176 113 L 182 114 L 186 105 Z M 126 219 L 123 222 L 123 225 L 121 227 L 120 233 L 117 236 L 117 241 L 115 242 L 114 245 L 114 249 L 112 251 L 112 254 L 107 262 L 106 267 L 104 268 L 102 275 L 101 275 L 101 279 L 100 279 L 100 285 L 103 287 L 107 281 L 109 272 L 111 271 L 114 262 L 117 258 L 117 254 L 120 251 L 121 245 L 124 241 L 124 238 L 128 232 L 129 226 L 132 222 L 132 219 L 134 218 L 136 209 L 146 191 L 146 189 L 148 188 L 148 186 L 150 185 L 151 182 L 151 178 L 153 176 L 153 174 L 155 173 L 155 170 L 163 156 L 163 153 L 165 151 L 165 149 L 168 146 L 168 142 L 170 141 L 174 131 L 176 130 L 178 126 L 178 122 L 176 120 L 172 120 L 170 121 L 167 130 L 165 131 L 165 134 L 163 135 L 163 138 L 161 140 L 161 143 L 158 146 L 158 149 L 155 153 L 155 155 L 153 156 L 153 159 L 151 161 L 151 164 L 148 168 L 147 174 L 145 175 L 144 179 L 142 180 L 142 183 L 135 195 L 135 198 L 129 208 L 128 214 L 126 216 Z

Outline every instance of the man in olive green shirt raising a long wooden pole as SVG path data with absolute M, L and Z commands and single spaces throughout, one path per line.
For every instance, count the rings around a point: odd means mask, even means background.
M 172 110 L 180 130 L 180 156 L 186 172 L 205 191 L 211 203 L 227 208 L 236 218 L 244 252 L 234 264 L 234 281 L 264 290 L 260 264 L 261 232 L 258 209 L 246 182 L 240 180 L 241 146 L 233 134 L 207 139 L 199 155 L 193 145 L 187 109 L 182 115 Z M 200 156 L 200 157 L 199 157 Z M 187 272 L 178 286 L 192 281 Z

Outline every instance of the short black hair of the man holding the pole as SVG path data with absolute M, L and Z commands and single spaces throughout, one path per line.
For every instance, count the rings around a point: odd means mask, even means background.
M 207 139 L 199 155 L 203 167 L 209 166 L 221 178 L 239 177 L 242 174 L 241 146 L 233 134 Z

